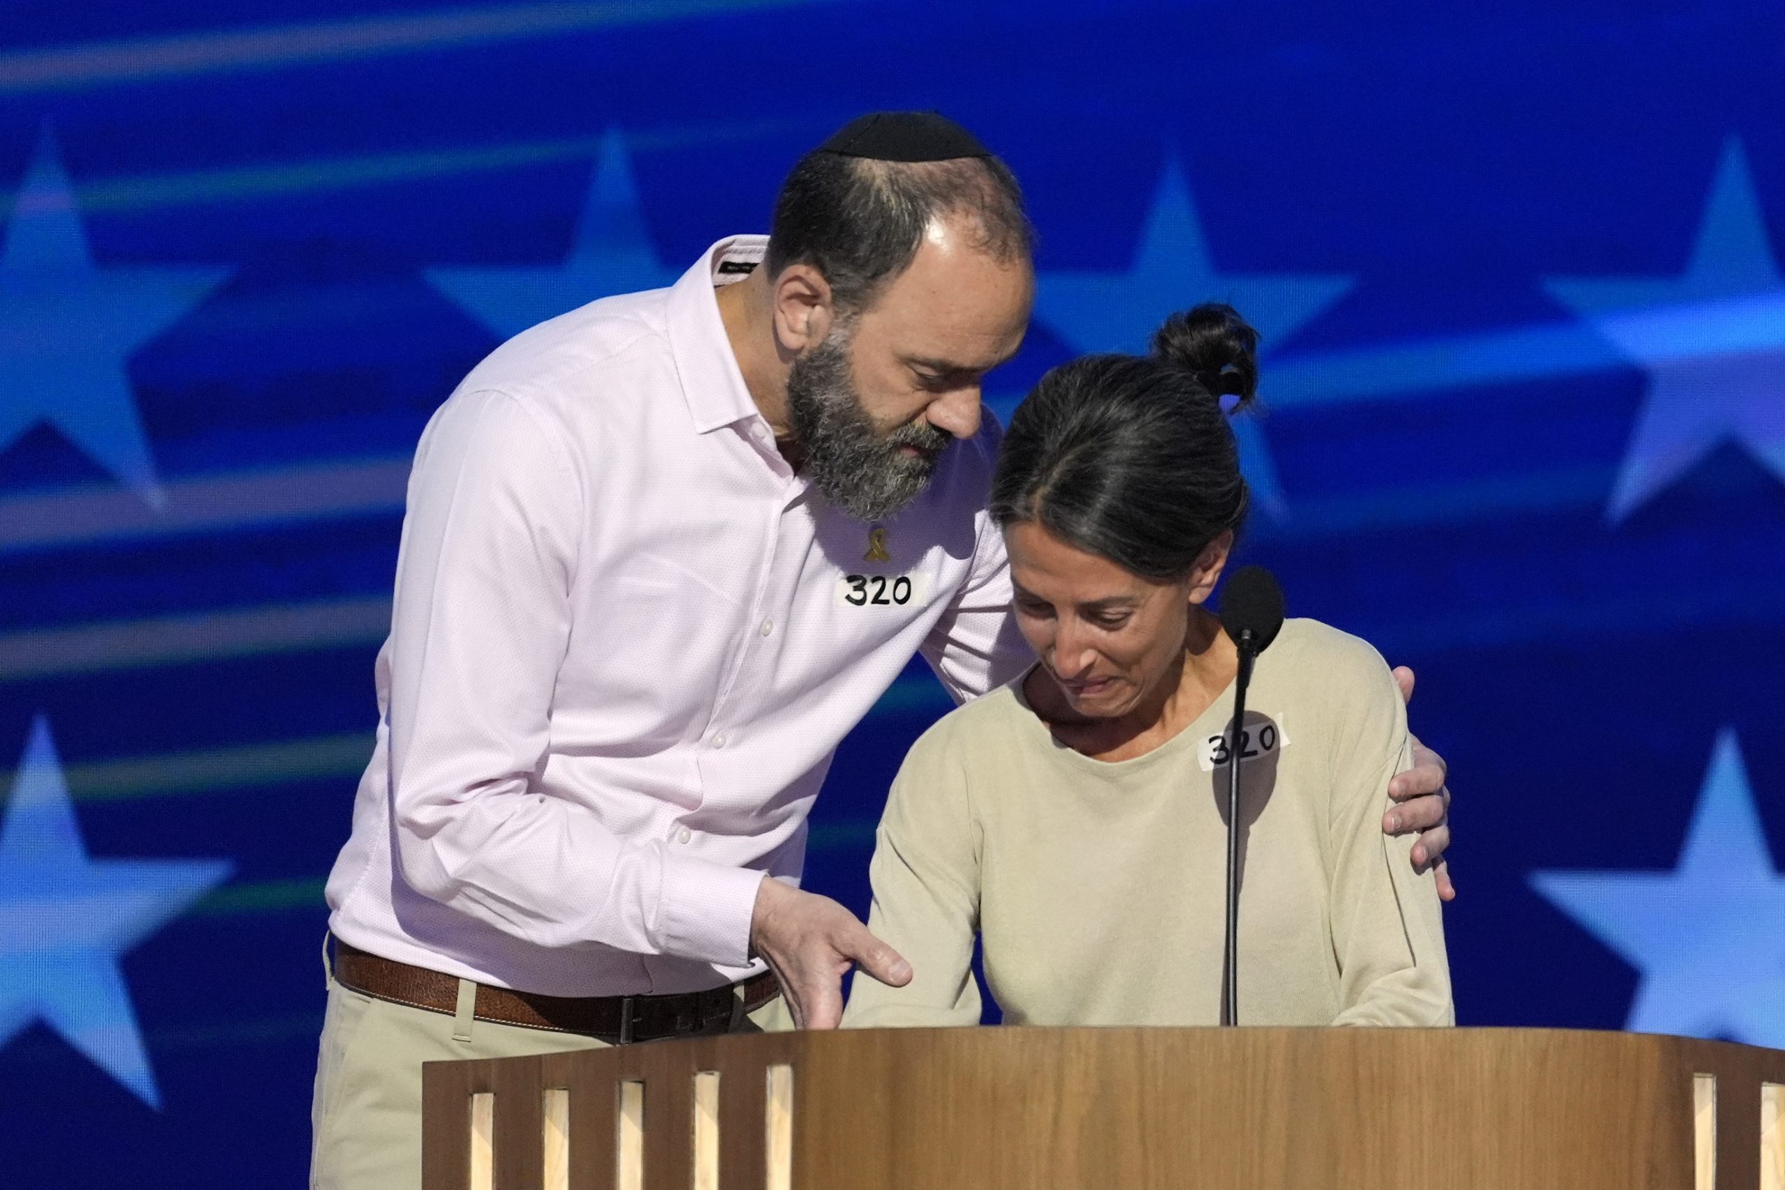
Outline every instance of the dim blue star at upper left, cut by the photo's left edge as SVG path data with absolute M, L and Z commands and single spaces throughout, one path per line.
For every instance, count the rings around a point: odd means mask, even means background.
M 46 421 L 159 508 L 127 362 L 232 271 L 98 268 L 45 127 L 0 246 L 0 450 Z

